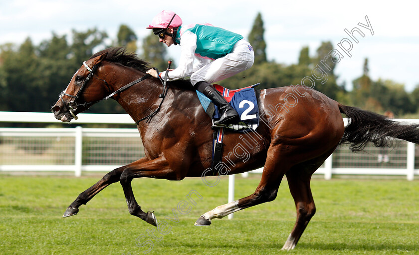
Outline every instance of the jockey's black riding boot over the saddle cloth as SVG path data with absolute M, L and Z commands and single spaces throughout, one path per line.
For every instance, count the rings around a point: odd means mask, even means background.
M 212 102 L 218 106 L 220 111 L 220 118 L 218 120 L 214 120 L 214 125 L 228 125 L 228 124 L 236 124 L 240 120 L 237 112 L 225 101 L 224 97 L 208 82 L 200 81 L 195 85 L 195 88 L 206 95 L 208 98 L 212 100 Z

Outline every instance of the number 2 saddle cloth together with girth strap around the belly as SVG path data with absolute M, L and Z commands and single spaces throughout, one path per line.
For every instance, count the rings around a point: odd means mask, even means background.
M 222 141 L 224 139 L 224 130 L 228 128 L 236 132 L 252 132 L 256 130 L 259 125 L 259 107 L 257 105 L 256 94 L 254 87 L 260 83 L 254 84 L 241 89 L 230 90 L 218 84 L 214 84 L 215 89 L 225 98 L 225 100 L 237 111 L 240 116 L 238 124 L 230 124 L 228 126 L 212 126 L 214 135 L 212 140 L 212 175 L 215 176 L 215 166 L 221 162 L 222 156 Z M 218 107 L 206 97 L 203 93 L 197 90 L 198 98 L 205 112 L 212 120 L 219 118 Z M 213 122 L 212 122 L 213 123 Z

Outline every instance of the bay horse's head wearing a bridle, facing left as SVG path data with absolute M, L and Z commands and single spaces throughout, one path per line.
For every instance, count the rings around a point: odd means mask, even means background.
M 96 78 L 98 67 L 107 53 L 91 58 L 83 63 L 71 78 L 67 88 L 61 92 L 58 101 L 51 107 L 56 119 L 70 122 L 77 114 L 87 110 L 92 104 L 103 99 L 106 81 Z

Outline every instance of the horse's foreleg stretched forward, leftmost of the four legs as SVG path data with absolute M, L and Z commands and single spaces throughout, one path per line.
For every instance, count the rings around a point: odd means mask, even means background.
M 96 194 L 98 194 L 101 190 L 108 187 L 112 183 L 116 183 L 121 178 L 121 174 L 124 171 L 125 168 L 132 164 L 139 164 L 142 162 L 147 161 L 147 158 L 141 158 L 131 164 L 128 164 L 126 166 L 117 168 L 112 170 L 111 172 L 107 173 L 105 176 L 102 177 L 97 183 L 95 183 L 92 187 L 88 188 L 87 190 L 83 191 L 78 195 L 76 200 L 73 201 L 73 203 L 70 204 L 69 207 L 67 207 L 67 210 L 65 210 L 64 215 L 62 217 L 70 217 L 73 215 L 76 215 L 79 211 L 79 207 L 81 205 L 85 205 L 87 202 L 89 202 Z

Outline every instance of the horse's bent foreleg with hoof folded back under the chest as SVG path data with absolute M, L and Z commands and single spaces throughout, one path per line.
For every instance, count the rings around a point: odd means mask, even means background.
M 140 219 L 150 223 L 153 226 L 157 226 L 157 220 L 154 216 L 154 212 L 145 213 L 141 210 L 135 200 L 134 193 L 132 191 L 131 181 L 134 178 L 140 177 L 151 177 L 159 179 L 176 179 L 174 178 L 175 173 L 169 168 L 169 164 L 164 157 L 160 157 L 144 163 L 131 165 L 123 171 L 120 178 L 120 183 L 124 190 L 125 199 L 127 201 L 128 211 L 131 215 L 137 216 Z

